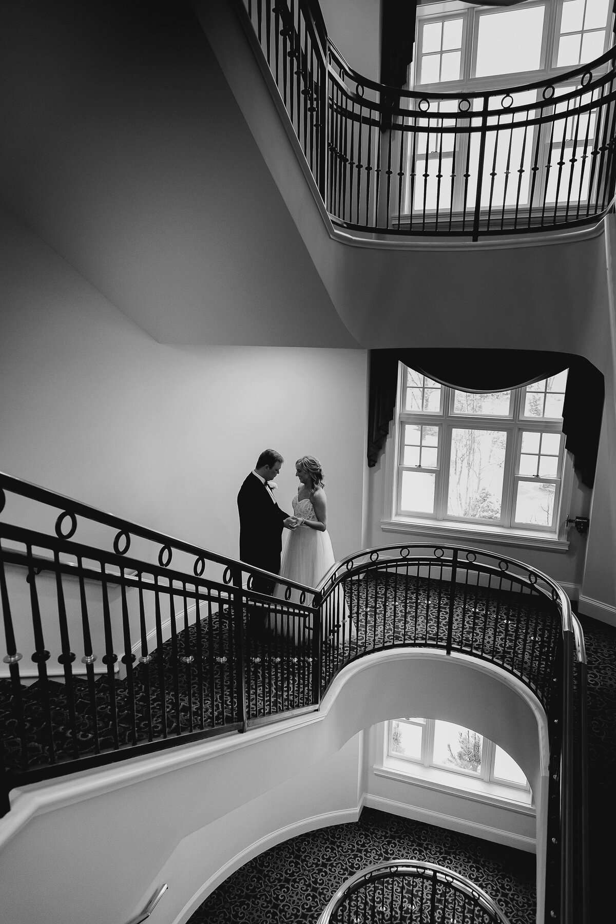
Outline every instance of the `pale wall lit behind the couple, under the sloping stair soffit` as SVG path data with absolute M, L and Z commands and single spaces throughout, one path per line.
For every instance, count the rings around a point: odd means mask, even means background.
M 0 468 L 236 556 L 236 493 L 260 450 L 285 456 L 287 509 L 310 453 L 334 551 L 356 550 L 364 351 L 163 346 L 6 214 L 0 249 Z

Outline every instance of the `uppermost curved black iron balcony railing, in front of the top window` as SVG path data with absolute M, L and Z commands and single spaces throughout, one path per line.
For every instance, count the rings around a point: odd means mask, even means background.
M 236 6 L 334 225 L 477 240 L 587 225 L 612 207 L 613 48 L 508 90 L 401 91 L 347 65 L 313 0 Z

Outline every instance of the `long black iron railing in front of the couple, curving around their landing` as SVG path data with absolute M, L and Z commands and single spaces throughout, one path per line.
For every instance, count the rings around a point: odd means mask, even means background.
M 418 545 L 356 553 L 316 589 L 282 581 L 286 599 L 251 590 L 256 573 L 0 473 L 2 813 L 18 785 L 317 710 L 371 652 L 456 651 L 519 678 L 548 716 L 547 914 L 582 920 L 586 659 L 559 586 Z

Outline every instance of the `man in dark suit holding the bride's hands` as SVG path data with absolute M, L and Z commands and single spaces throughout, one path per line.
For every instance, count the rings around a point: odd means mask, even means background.
M 237 494 L 239 557 L 248 565 L 275 575 L 280 571 L 283 529 L 296 527 L 295 519 L 276 504 L 268 484 L 276 477 L 283 462 L 283 456 L 275 449 L 265 449 Z M 271 594 L 274 584 L 270 577 L 255 575 L 252 590 Z

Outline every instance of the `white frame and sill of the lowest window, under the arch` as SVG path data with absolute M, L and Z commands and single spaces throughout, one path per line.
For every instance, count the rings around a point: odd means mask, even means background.
M 535 814 L 535 804 L 530 784 L 516 784 L 494 777 L 494 757 L 496 746 L 483 737 L 481 772 L 465 771 L 459 767 L 445 767 L 430 760 L 434 744 L 434 726 L 436 719 L 425 719 L 422 736 L 422 756 L 420 760 L 392 754 L 390 745 L 394 722 L 405 719 L 390 719 L 383 722 L 378 729 L 377 753 L 374 772 L 402 783 L 419 784 L 430 789 L 438 789 L 481 802 L 500 804 Z

